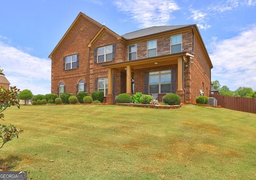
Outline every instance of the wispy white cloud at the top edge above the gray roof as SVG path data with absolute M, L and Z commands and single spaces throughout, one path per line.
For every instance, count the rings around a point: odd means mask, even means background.
M 168 0 L 124 0 L 115 1 L 114 4 L 134 21 L 139 22 L 142 28 L 166 25 L 174 18 L 171 13 L 179 10 L 177 3 Z

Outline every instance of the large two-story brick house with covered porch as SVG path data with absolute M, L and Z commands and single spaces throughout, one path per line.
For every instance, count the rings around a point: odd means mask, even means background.
M 154 26 L 119 36 L 79 13 L 49 55 L 51 92 L 176 93 L 182 102 L 209 96 L 212 63 L 196 24 Z

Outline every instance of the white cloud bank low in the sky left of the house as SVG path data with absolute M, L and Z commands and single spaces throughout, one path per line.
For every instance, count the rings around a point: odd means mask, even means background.
M 0 66 L 12 86 L 34 94 L 51 92 L 51 61 L 0 41 Z

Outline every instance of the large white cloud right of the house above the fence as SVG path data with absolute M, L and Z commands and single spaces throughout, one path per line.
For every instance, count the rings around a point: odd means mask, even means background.
M 239 86 L 256 89 L 256 26 L 213 46 L 212 76 L 233 90 Z

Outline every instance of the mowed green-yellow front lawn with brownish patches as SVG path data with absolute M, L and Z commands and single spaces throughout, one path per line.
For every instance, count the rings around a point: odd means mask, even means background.
M 22 106 L 0 151 L 28 179 L 255 179 L 256 114 L 187 105 Z M 50 160 L 54 160 L 50 162 Z

